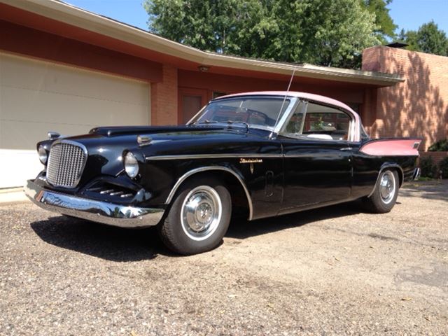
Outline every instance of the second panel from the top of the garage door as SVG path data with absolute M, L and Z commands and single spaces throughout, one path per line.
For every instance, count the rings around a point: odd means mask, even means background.
M 2 87 L 2 120 L 75 125 L 148 125 L 148 105 Z

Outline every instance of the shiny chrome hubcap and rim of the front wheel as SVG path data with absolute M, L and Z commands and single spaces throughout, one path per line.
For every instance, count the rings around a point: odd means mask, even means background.
M 183 232 L 193 240 L 204 240 L 214 234 L 221 221 L 223 205 L 214 188 L 198 186 L 183 200 L 181 223 Z

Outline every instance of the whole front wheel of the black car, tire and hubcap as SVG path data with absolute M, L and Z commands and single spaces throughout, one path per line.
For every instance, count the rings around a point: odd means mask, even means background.
M 169 213 L 159 225 L 165 245 L 191 255 L 216 248 L 227 232 L 232 214 L 230 193 L 211 177 L 198 177 L 181 186 Z

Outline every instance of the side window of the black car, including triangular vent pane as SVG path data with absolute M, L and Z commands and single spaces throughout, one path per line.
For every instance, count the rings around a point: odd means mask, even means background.
M 347 113 L 315 103 L 307 104 L 306 113 L 303 110 L 303 104 L 299 104 L 283 127 L 283 135 L 335 141 L 349 139 L 351 117 Z

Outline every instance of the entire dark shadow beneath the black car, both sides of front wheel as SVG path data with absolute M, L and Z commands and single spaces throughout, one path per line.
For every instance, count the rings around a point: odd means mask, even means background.
M 240 219 L 232 221 L 225 237 L 244 239 L 265 235 L 327 218 L 358 214 L 359 211 L 360 204 L 351 202 L 251 222 Z M 48 244 L 115 262 L 151 260 L 158 255 L 181 257 L 164 246 L 155 228 L 116 228 L 66 216 L 36 221 L 31 223 L 31 228 Z

